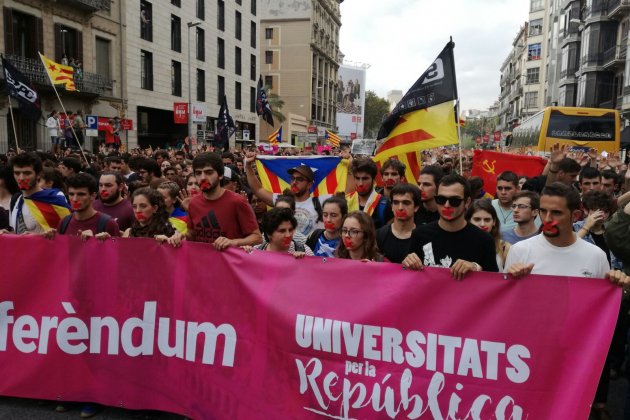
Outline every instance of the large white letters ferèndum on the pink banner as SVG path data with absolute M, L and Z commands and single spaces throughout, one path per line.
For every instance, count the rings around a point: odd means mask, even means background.
M 72 304 L 62 302 L 62 307 L 68 315 L 76 314 Z M 9 337 L 16 350 L 22 353 L 37 351 L 39 354 L 47 354 L 53 340 L 59 350 L 70 355 L 85 352 L 118 355 L 122 350 L 130 357 L 151 356 L 156 354 L 157 344 L 157 351 L 162 356 L 196 362 L 197 344 L 201 337 L 203 338 L 201 363 L 212 365 L 215 361 L 217 339 L 223 336 L 221 365 L 234 366 L 236 352 L 234 327 L 229 324 L 217 327 L 210 322 L 176 320 L 174 334 L 171 334 L 172 320 L 165 317 L 156 319 L 157 302 L 144 302 L 142 318 L 131 317 L 124 322 L 111 316 L 91 317 L 89 322 L 75 316 L 42 316 L 41 319 L 36 319 L 31 315 L 21 315 L 15 318 L 11 314 L 13 310 L 12 301 L 0 302 L 0 351 L 7 350 Z M 105 331 L 107 349 L 104 351 L 102 337 Z M 134 343 L 133 336 L 139 343 Z M 169 342 L 171 336 L 175 339 L 174 345 Z

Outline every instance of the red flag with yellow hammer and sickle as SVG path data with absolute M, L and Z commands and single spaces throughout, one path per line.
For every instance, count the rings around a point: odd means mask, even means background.
M 539 156 L 515 155 L 490 150 L 475 150 L 471 175 L 483 179 L 483 189 L 496 195 L 497 176 L 504 171 L 515 172 L 519 176 L 542 174 L 547 161 Z

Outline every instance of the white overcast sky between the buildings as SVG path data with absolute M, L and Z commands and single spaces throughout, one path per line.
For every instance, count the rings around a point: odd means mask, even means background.
M 487 109 L 499 96 L 499 69 L 529 0 L 345 0 L 341 51 L 370 64 L 366 85 L 380 97 L 403 93 L 453 37 L 462 109 Z

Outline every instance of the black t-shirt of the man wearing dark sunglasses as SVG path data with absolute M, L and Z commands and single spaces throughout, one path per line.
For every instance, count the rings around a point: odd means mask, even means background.
M 431 222 L 417 227 L 411 240 L 410 251 L 416 253 L 425 266 L 451 267 L 461 259 L 476 262 L 483 271 L 499 271 L 494 240 L 470 223 L 457 232 L 448 232 L 438 222 Z

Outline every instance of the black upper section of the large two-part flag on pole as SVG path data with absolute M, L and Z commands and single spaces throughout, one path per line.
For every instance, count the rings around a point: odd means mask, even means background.
M 446 44 L 433 64 L 405 93 L 381 124 L 377 139 L 387 137 L 404 114 L 457 99 L 453 47 L 455 43 L 452 41 Z

